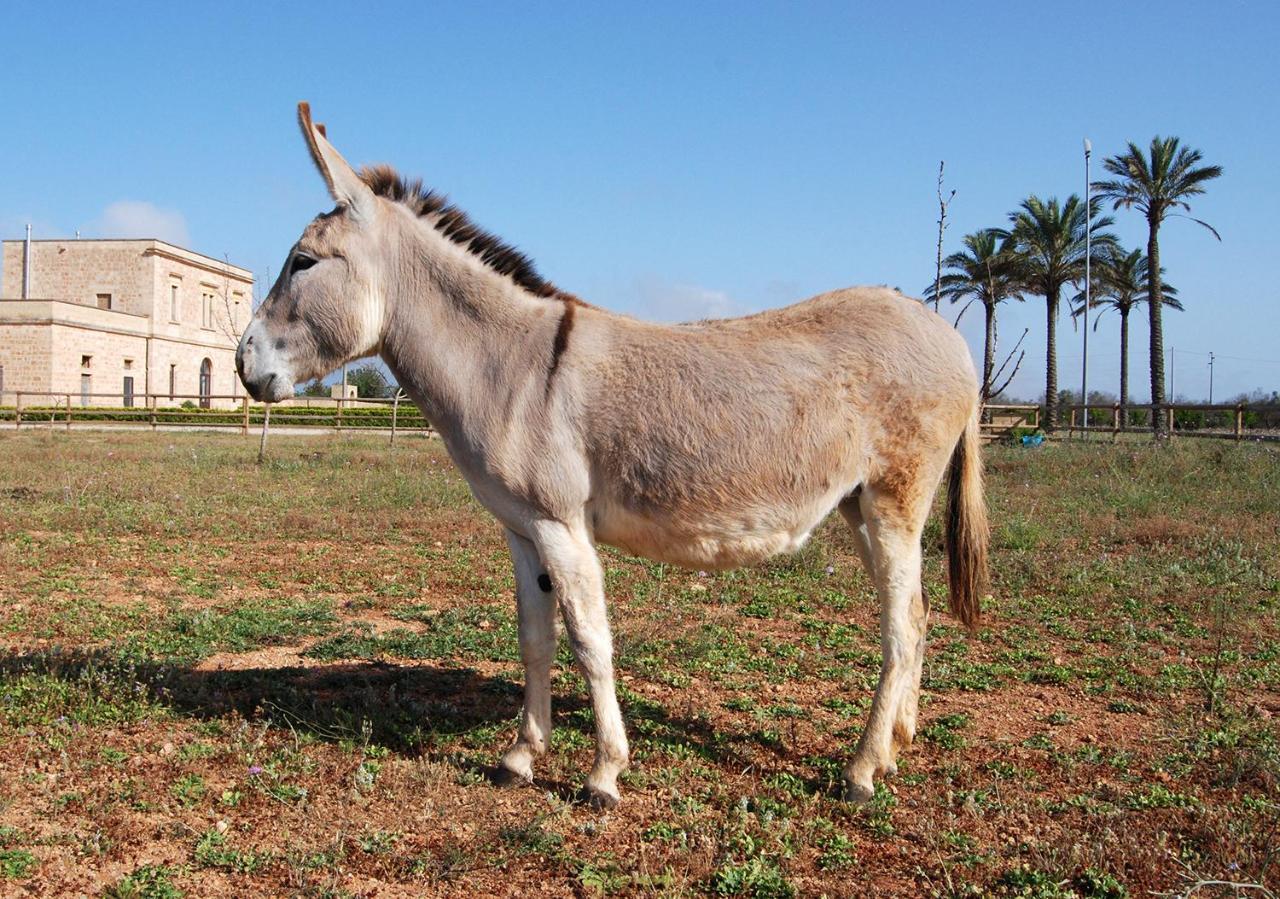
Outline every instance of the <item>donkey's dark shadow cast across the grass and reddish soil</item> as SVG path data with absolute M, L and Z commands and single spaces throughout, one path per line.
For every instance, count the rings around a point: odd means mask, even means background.
M 490 781 L 497 780 L 497 768 L 477 759 L 497 762 L 500 749 L 494 738 L 515 731 L 522 698 L 521 684 L 502 675 L 381 661 L 206 670 L 129 660 L 111 649 L 10 649 L 0 652 L 0 675 L 5 680 L 52 677 L 69 694 L 96 693 L 95 702 L 146 699 L 179 717 L 215 721 L 230 716 L 326 743 L 379 745 L 406 758 L 443 761 L 460 775 Z M 591 736 L 589 708 L 585 695 L 557 694 L 556 726 Z M 682 743 L 709 759 L 728 761 L 723 740 L 705 718 L 671 715 L 648 703 L 630 711 L 649 729 L 660 730 L 662 743 Z M 539 777 L 535 785 L 564 799 L 577 795 L 575 786 L 556 780 Z

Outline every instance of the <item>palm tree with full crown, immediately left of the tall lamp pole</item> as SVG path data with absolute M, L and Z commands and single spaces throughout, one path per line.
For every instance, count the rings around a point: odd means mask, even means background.
M 1012 228 L 1000 232 L 1012 238 L 1019 279 L 1023 288 L 1044 297 L 1047 334 L 1044 348 L 1044 429 L 1057 426 L 1057 309 L 1062 288 L 1084 278 L 1084 231 L 1089 222 L 1084 202 L 1076 195 L 1059 206 L 1057 197 L 1041 200 L 1034 193 L 1009 214 Z M 1112 224 L 1107 215 L 1093 216 L 1093 247 L 1106 254 L 1115 237 L 1102 228 Z

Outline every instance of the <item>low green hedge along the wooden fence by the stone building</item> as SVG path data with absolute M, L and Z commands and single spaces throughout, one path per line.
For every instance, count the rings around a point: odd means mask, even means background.
M 0 421 L 13 421 L 17 410 L 13 406 L 0 406 Z M 65 406 L 23 406 L 23 421 L 55 421 L 67 420 Z M 323 426 L 334 428 L 338 424 L 338 414 L 333 407 L 307 407 L 307 406 L 275 406 L 271 409 L 271 420 L 282 428 L 289 426 Z M 72 407 L 72 421 L 119 421 L 119 423 L 150 423 L 151 412 L 145 406 L 87 406 Z M 241 409 L 183 409 L 178 406 L 160 406 L 156 409 L 156 424 L 205 424 L 205 425 L 239 425 L 244 421 L 244 412 Z M 250 406 L 250 425 L 262 424 L 262 406 Z M 388 409 L 344 409 L 342 410 L 343 428 L 390 428 L 392 410 Z M 412 403 L 403 403 L 396 416 L 397 428 L 426 428 L 426 419 Z

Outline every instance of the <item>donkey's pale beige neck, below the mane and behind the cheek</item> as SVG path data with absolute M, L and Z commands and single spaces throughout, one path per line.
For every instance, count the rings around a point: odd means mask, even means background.
M 545 393 L 564 304 L 421 231 L 392 268 L 381 355 L 451 452 L 484 455 L 521 397 Z

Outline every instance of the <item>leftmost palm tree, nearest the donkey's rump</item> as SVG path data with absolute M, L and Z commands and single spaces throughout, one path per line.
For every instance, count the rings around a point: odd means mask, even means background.
M 998 229 L 987 228 L 965 234 L 965 250 L 954 252 L 942 260 L 947 274 L 942 275 L 934 296 L 934 286 L 924 291 L 928 302 L 937 304 L 940 297 L 951 302 L 968 298 L 980 302 L 987 316 L 986 338 L 982 347 L 982 402 L 991 401 L 991 378 L 996 362 L 996 306 L 1005 300 L 1021 300 L 1016 279 L 1016 257 L 1014 242 L 1009 236 L 1001 237 Z M 968 306 L 965 306 L 968 309 Z M 961 310 L 960 315 L 964 315 Z M 956 319 L 959 323 L 960 319 Z

